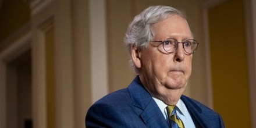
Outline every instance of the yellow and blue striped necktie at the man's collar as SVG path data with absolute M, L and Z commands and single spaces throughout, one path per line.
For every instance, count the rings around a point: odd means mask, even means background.
M 182 120 L 177 116 L 177 106 L 167 106 L 169 124 L 172 128 L 184 128 Z

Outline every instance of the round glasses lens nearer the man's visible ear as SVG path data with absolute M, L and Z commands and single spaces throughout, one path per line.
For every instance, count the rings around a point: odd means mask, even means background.
M 163 41 L 163 49 L 166 52 L 174 52 L 177 48 L 177 41 L 170 38 L 170 39 L 166 39 L 165 41 Z

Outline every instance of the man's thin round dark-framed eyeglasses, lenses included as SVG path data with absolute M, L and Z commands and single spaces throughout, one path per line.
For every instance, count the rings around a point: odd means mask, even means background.
M 151 42 L 162 42 L 163 49 L 168 52 L 172 53 L 175 52 L 176 49 L 178 48 L 178 41 L 174 38 L 168 38 L 165 39 L 164 41 L 151 41 Z M 182 43 L 183 49 L 187 54 L 193 54 L 197 50 L 198 42 L 193 39 L 185 40 L 180 42 Z

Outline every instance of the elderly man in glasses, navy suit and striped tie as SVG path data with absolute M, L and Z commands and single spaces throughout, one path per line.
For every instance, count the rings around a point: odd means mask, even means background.
M 130 23 L 125 43 L 138 76 L 95 102 L 86 127 L 224 127 L 218 113 L 183 95 L 198 43 L 179 10 L 145 9 Z

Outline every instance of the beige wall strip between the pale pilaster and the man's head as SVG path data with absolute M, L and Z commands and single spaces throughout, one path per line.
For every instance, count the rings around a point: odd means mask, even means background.
M 123 37 L 131 22 L 132 2 L 111 0 L 106 2 L 106 23 L 108 35 L 108 77 L 109 91 L 125 88 L 133 80 L 129 67 L 129 54 L 123 44 Z

